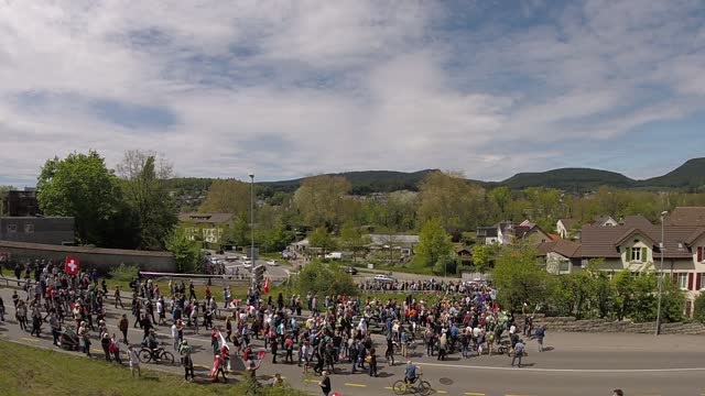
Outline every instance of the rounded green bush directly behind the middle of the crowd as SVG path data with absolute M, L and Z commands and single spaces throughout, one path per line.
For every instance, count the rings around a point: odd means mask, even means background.
M 356 296 L 359 293 L 350 274 L 337 264 L 323 264 L 318 260 L 313 260 L 299 272 L 294 288 L 301 295 L 311 292 L 319 296 Z

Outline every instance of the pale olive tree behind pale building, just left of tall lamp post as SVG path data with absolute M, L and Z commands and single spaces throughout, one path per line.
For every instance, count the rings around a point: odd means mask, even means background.
M 249 213 L 250 188 L 249 184 L 240 180 L 214 180 L 198 211 L 202 213 Z

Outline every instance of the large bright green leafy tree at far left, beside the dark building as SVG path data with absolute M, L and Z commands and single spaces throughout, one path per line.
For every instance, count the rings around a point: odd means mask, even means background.
M 132 248 L 134 222 L 124 205 L 118 178 L 97 152 L 48 160 L 36 183 L 36 199 L 45 216 L 69 216 L 80 244 Z

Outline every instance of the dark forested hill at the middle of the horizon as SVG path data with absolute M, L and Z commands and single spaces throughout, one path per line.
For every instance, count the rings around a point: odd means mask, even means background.
M 346 172 L 339 174 L 328 174 L 327 176 L 341 176 L 347 178 L 352 185 L 352 194 L 367 195 L 370 193 L 391 193 L 398 190 L 419 189 L 419 183 L 430 173 L 437 169 L 424 169 L 419 172 L 405 173 L 393 170 L 364 170 L 364 172 Z M 299 188 L 305 178 L 282 182 L 264 182 L 262 186 L 270 187 L 278 191 L 293 193 Z

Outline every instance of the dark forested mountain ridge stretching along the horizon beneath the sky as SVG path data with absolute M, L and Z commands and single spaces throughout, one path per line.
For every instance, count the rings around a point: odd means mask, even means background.
M 423 169 L 419 172 L 394 170 L 361 170 L 327 174 L 327 176 L 341 176 L 350 180 L 352 194 L 368 195 L 371 193 L 391 193 L 397 190 L 419 189 L 419 184 L 430 173 L 438 169 Z M 261 182 L 260 186 L 269 187 L 275 191 L 293 193 L 299 188 L 305 177 L 280 180 Z M 203 195 L 212 179 L 208 178 L 178 178 L 170 180 L 173 185 L 196 184 Z M 565 191 L 585 193 L 596 190 L 600 186 L 618 188 L 674 188 L 688 191 L 705 190 L 705 157 L 686 161 L 683 165 L 663 176 L 657 176 L 643 180 L 636 180 L 620 173 L 593 169 L 593 168 L 560 168 L 546 172 L 518 173 L 502 182 L 468 180 L 479 184 L 485 188 L 507 186 L 511 189 L 527 187 L 557 188 Z M 195 194 L 194 194 L 195 195 Z

